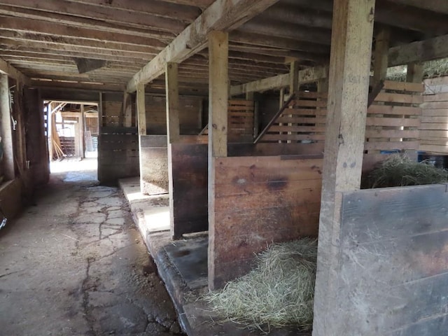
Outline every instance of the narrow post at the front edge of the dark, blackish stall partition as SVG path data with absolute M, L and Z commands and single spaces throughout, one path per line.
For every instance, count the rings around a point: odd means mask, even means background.
M 168 141 L 168 190 L 169 190 L 169 223 L 173 239 L 179 238 L 174 221 L 174 190 L 172 144 L 180 139 L 179 125 L 179 66 L 177 63 L 167 63 L 165 66 L 165 87 L 167 92 L 167 141 Z M 176 195 L 179 197 L 179 195 Z

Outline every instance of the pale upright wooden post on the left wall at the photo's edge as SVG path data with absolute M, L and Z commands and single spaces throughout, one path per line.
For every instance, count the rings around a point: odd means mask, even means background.
M 3 174 L 7 180 L 15 178 L 13 127 L 11 125 L 8 75 L 0 75 L 0 137 L 3 147 Z

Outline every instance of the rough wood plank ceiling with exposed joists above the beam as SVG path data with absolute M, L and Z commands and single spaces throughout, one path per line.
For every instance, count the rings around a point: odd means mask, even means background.
M 213 1 L 0 0 L 0 57 L 36 86 L 123 90 Z M 448 34 L 447 2 L 377 0 L 375 28 L 390 27 L 391 46 Z M 332 0 L 279 1 L 231 32 L 232 85 L 328 62 L 331 25 Z M 207 90 L 207 64 L 207 50 L 183 62 L 181 85 Z

